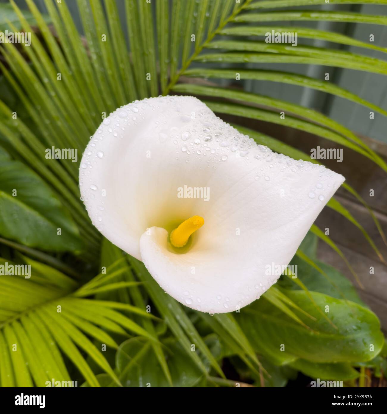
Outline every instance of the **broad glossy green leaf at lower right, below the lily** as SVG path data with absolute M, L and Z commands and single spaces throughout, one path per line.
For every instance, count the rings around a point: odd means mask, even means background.
M 277 361 L 288 355 L 293 356 L 293 361 L 302 358 L 318 363 L 368 361 L 380 352 L 384 338 L 374 313 L 357 303 L 317 292 L 310 294 L 338 329 L 317 312 L 304 291 L 288 290 L 286 296 L 316 318 L 306 320 L 298 313 L 312 330 L 305 329 L 269 302 L 255 301 L 242 308 L 236 319 L 256 351 Z

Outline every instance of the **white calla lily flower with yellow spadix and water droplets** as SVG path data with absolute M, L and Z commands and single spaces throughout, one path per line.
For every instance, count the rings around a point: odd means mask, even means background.
M 269 289 L 343 181 L 257 145 L 191 96 L 118 108 L 79 173 L 97 229 L 173 298 L 209 313 Z

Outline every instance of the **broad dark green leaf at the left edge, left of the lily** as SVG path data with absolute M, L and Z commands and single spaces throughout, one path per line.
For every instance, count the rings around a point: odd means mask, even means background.
M 74 222 L 36 173 L 19 161 L 2 161 L 0 177 L 2 236 L 45 250 L 82 247 Z

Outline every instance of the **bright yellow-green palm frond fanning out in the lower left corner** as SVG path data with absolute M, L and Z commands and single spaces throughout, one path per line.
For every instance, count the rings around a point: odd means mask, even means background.
M 0 259 L 1 265 L 15 265 Z M 126 310 L 142 318 L 152 316 L 142 308 L 111 301 L 83 299 L 95 294 L 98 287 L 77 288 L 78 283 L 47 265 L 26 258 L 32 266 L 31 279 L 6 275 L 0 278 L 0 380 L 6 386 L 43 387 L 55 378 L 70 380 L 63 355 L 79 369 L 90 384 L 98 386 L 84 354 L 98 364 L 118 385 L 120 382 L 96 343 L 118 348 L 110 331 L 127 337 L 142 335 L 157 343 L 151 335 L 130 318 L 115 309 Z M 22 265 L 23 266 L 23 265 Z M 107 273 L 109 274 L 109 269 Z M 109 277 L 92 279 L 94 285 L 111 289 L 122 288 L 117 283 L 106 284 Z M 135 286 L 134 282 L 126 287 Z

